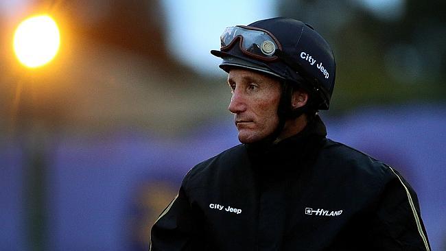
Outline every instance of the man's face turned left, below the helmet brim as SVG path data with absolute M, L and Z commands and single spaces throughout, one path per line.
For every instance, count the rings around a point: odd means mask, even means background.
M 279 123 L 280 82 L 255 71 L 231 69 L 228 84 L 232 89 L 228 110 L 234 114 L 239 141 L 255 143 L 272 134 Z

